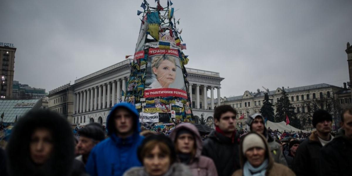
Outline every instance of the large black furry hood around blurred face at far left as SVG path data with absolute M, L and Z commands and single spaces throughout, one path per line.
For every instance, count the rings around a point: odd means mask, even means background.
M 41 166 L 32 162 L 29 149 L 31 135 L 37 128 L 48 129 L 54 144 L 50 158 Z M 58 113 L 49 110 L 30 111 L 13 127 L 6 150 L 10 176 L 70 175 L 75 151 L 72 128 Z

